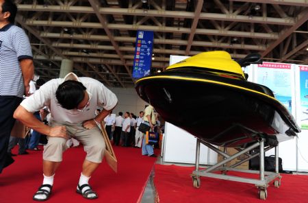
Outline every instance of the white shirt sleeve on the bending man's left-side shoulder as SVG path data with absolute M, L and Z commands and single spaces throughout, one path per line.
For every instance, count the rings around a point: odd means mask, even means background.
M 28 112 L 36 112 L 44 106 L 50 106 L 51 97 L 55 97 L 53 80 L 43 84 L 35 93 L 21 102 L 21 106 Z

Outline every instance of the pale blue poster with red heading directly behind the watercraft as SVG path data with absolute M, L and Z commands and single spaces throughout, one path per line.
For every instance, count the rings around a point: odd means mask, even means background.
M 257 64 L 257 83 L 270 88 L 277 100 L 292 113 L 292 64 Z

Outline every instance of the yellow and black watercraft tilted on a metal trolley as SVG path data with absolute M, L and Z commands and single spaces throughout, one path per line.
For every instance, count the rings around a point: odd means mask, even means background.
M 226 51 L 199 53 L 142 77 L 136 91 L 166 121 L 214 145 L 245 147 L 260 138 L 277 145 L 300 132 L 270 88 L 248 82 Z

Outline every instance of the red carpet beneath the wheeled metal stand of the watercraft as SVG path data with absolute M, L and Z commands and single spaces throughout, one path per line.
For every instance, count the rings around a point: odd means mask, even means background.
M 159 201 L 168 202 L 308 202 L 308 176 L 281 174 L 281 187 L 268 187 L 268 198 L 257 198 L 253 184 L 201 177 L 201 187 L 192 186 L 190 174 L 194 167 L 155 165 L 154 184 Z M 240 174 L 229 172 L 231 175 Z M 242 174 L 241 174 L 242 175 Z M 255 174 L 244 174 L 257 177 Z

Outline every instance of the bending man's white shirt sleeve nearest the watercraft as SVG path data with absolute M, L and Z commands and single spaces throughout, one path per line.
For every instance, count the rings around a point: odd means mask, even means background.
M 116 95 L 100 82 L 97 106 L 101 106 L 105 110 L 111 110 L 117 103 L 118 98 L 116 98 Z

